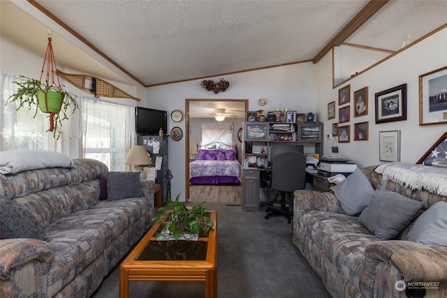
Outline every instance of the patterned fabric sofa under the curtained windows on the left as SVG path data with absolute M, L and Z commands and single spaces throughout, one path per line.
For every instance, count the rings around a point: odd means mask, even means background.
M 138 179 L 138 198 L 99 200 L 107 167 L 73 163 L 0 174 L 1 207 L 14 202 L 20 223 L 43 232 L 0 240 L 0 297 L 89 297 L 149 228 L 154 182 Z

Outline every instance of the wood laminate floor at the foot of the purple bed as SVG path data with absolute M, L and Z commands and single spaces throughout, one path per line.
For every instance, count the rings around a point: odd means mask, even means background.
M 240 203 L 240 185 L 190 185 L 189 202 Z

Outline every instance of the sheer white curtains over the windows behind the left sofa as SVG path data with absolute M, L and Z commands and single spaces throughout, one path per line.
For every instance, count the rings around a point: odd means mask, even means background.
M 74 92 L 80 110 L 68 114 L 62 124 L 61 137 L 55 140 L 47 132 L 47 114 L 8 103 L 17 91 L 17 75 L 1 71 L 0 94 L 0 151 L 13 149 L 50 150 L 71 158 L 94 158 L 111 171 L 126 169 L 124 161 L 135 142 L 135 107 L 119 105 L 94 96 Z

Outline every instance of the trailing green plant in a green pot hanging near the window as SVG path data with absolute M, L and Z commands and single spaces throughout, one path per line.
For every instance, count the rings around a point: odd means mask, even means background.
M 76 96 L 66 91 L 65 86 L 56 86 L 55 84 L 48 84 L 47 81 L 41 82 L 36 79 L 19 75 L 24 82 L 14 81 L 19 86 L 17 92 L 11 95 L 6 103 L 17 103 L 17 109 L 22 107 L 28 110 L 34 110 L 36 117 L 38 109 L 42 112 L 50 113 L 50 128 L 48 131 L 53 133 L 53 137 L 59 140 L 61 136 L 62 121 L 68 119 L 67 112 L 70 106 L 73 106 L 73 113 L 79 108 Z M 52 98 L 55 98 L 56 103 L 52 103 Z

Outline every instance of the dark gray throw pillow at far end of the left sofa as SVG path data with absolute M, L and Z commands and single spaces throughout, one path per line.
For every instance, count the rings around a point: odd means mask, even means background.
M 140 172 L 108 172 L 107 200 L 139 198 L 142 196 Z

